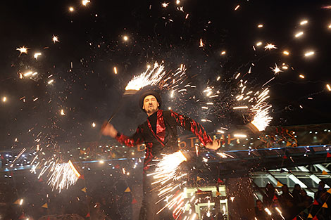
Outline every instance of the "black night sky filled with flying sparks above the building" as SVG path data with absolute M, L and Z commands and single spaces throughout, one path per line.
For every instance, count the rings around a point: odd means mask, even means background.
M 172 0 L 165 1 L 166 8 L 162 3 L 1 1 L 0 149 L 33 147 L 36 139 L 45 145 L 98 141 L 100 126 L 118 108 L 127 82 L 161 61 L 166 71 L 185 64 L 182 86 L 196 86 L 173 101 L 163 89 L 163 108 L 199 122 L 211 119 L 202 123 L 208 131 L 245 123 L 244 113 L 232 110 L 239 72 L 254 91 L 275 77 L 264 86 L 273 105 L 271 125 L 331 122 L 328 1 L 184 0 L 177 5 Z M 302 20 L 308 23 L 300 25 Z M 300 31 L 303 36 L 294 37 Z M 52 41 L 54 35 L 58 42 Z M 265 50 L 267 43 L 277 49 Z M 30 48 L 27 54 L 16 50 L 22 46 Z M 314 55 L 305 57 L 306 51 Z M 36 60 L 37 52 L 42 55 Z M 288 70 L 275 75 L 270 67 L 282 63 Z M 38 72 L 37 77 L 20 79 L 28 71 Z M 206 86 L 218 89 L 220 97 L 205 111 Z M 146 118 L 137 100 L 138 95 L 123 98 L 112 121 L 125 134 Z

